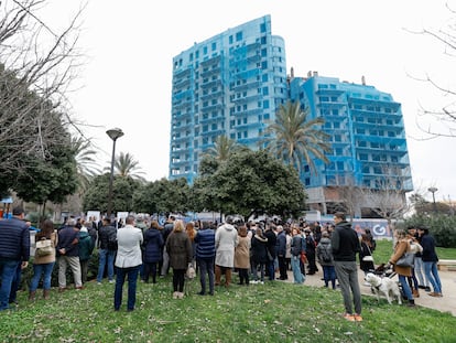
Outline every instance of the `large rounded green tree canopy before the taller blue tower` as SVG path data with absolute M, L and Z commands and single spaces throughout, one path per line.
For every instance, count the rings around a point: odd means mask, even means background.
M 202 165 L 214 165 L 214 160 Z M 213 174 L 195 180 L 192 196 L 198 211 L 251 214 L 301 215 L 305 192 L 294 169 L 271 158 L 265 151 L 242 150 L 218 164 Z

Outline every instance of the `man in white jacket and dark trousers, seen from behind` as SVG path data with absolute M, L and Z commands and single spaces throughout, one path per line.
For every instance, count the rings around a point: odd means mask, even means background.
M 141 245 L 143 242 L 141 228 L 134 227 L 134 216 L 128 215 L 126 225 L 117 232 L 117 256 L 116 256 L 116 288 L 113 306 L 119 311 L 122 304 L 122 291 L 126 277 L 128 279 L 127 311 L 134 310 L 137 301 L 137 281 L 140 266 L 142 265 Z

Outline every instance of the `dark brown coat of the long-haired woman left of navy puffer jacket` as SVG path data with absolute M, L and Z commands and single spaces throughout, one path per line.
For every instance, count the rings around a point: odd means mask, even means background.
M 187 269 L 193 258 L 192 242 L 187 233 L 173 231 L 166 239 L 166 251 L 173 269 Z

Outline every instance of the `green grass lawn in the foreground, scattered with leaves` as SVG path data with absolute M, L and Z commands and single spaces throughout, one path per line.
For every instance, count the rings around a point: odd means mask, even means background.
M 109 283 L 53 290 L 48 301 L 20 292 L 19 308 L 0 312 L 0 342 L 455 342 L 450 314 L 372 297 L 362 298 L 365 320 L 347 322 L 339 291 L 281 281 L 198 290 L 194 280 L 189 297 L 173 300 L 171 276 L 138 283 L 133 312 L 126 299 L 112 310 Z

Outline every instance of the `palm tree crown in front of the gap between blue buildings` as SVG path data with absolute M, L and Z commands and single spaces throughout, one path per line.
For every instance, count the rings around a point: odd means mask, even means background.
M 317 127 L 324 124 L 321 117 L 307 119 L 308 110 L 302 110 L 300 101 L 287 101 L 281 105 L 275 121 L 265 129 L 265 149 L 278 156 L 287 164 L 301 171 L 305 161 L 311 170 L 316 171 L 313 158 L 327 163 L 329 160 L 325 152 L 330 151 L 327 142 L 329 135 Z

